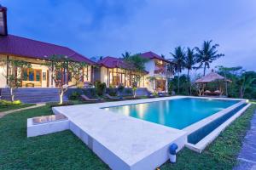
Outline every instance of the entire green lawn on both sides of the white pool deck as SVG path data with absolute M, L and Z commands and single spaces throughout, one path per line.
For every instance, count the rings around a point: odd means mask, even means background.
M 232 169 L 256 105 L 232 123 L 202 154 L 184 149 L 177 164 L 160 169 Z M 0 119 L 0 169 L 108 169 L 70 131 L 26 138 L 26 119 L 51 114 L 49 105 Z

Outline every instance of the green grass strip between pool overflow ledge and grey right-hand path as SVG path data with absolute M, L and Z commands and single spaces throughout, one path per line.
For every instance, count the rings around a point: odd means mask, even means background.
M 160 169 L 232 169 L 236 166 L 236 157 L 241 150 L 242 139 L 250 127 L 250 121 L 255 110 L 256 105 L 249 107 L 230 127 L 220 133 L 218 138 L 201 154 L 184 149 L 177 154 L 176 164 L 166 162 Z

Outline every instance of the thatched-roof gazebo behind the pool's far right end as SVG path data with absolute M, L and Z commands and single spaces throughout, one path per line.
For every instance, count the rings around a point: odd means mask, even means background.
M 220 76 L 218 73 L 214 72 L 212 70 L 212 72 L 210 72 L 209 74 L 207 74 L 205 77 L 201 77 L 199 79 L 197 79 L 195 82 L 198 84 L 202 84 L 202 89 L 199 89 L 199 95 L 201 95 L 204 91 L 204 88 L 206 87 L 206 84 L 208 82 L 226 82 L 226 90 L 227 90 L 227 82 L 231 82 L 230 80 L 226 79 L 225 77 Z M 219 90 L 221 91 L 221 89 Z

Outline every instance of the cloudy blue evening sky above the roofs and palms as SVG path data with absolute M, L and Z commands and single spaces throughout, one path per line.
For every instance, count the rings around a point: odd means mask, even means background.
M 255 0 L 0 0 L 9 33 L 73 48 L 88 58 L 154 51 L 212 39 L 222 59 L 256 71 Z

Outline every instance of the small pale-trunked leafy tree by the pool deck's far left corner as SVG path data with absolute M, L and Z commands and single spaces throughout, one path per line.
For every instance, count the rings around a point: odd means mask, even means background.
M 59 105 L 62 105 L 63 95 L 70 87 L 67 83 L 68 81 L 62 81 L 63 73 L 66 71 L 72 72 L 72 74 L 68 74 L 67 77 L 68 79 L 74 80 L 75 85 L 77 85 L 80 80 L 80 70 L 86 66 L 86 63 L 75 62 L 64 55 L 51 55 L 49 56 L 49 62 L 45 65 L 48 65 L 49 70 L 52 71 L 51 77 L 55 82 L 55 86 L 59 88 Z

